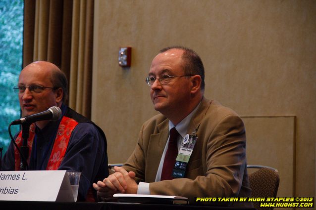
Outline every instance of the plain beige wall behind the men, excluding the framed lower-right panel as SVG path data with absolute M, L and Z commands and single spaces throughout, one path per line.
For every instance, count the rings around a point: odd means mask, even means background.
M 92 119 L 110 163 L 129 157 L 157 113 L 144 82 L 151 60 L 180 44 L 204 61 L 206 97 L 242 116 L 296 116 L 295 193 L 315 196 L 316 1 L 96 0 L 94 33 Z M 119 46 L 132 46 L 131 68 L 118 66 Z

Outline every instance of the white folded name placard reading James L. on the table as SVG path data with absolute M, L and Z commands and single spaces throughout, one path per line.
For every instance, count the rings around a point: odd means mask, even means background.
M 0 200 L 74 202 L 66 170 L 0 171 Z

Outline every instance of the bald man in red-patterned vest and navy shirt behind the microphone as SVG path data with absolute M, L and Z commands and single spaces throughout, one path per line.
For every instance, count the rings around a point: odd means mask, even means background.
M 106 138 L 102 129 L 67 107 L 67 79 L 53 63 L 37 61 L 20 73 L 13 88 L 18 94 L 22 116 L 61 109 L 56 122 L 37 121 L 30 126 L 29 170 L 81 172 L 78 201 L 94 201 L 92 183 L 108 175 Z M 21 145 L 21 132 L 14 137 Z M 1 170 L 19 170 L 20 155 L 11 143 L 3 156 Z M 94 195 L 93 195 L 94 194 Z

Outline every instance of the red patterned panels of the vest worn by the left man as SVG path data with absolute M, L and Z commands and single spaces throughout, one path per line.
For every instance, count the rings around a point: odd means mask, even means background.
M 69 139 L 71 136 L 71 133 L 73 129 L 78 125 L 78 122 L 74 119 L 68 118 L 66 116 L 63 116 L 61 119 L 61 122 L 58 126 L 58 130 L 56 133 L 56 138 L 53 144 L 53 150 L 51 152 L 50 159 L 47 164 L 47 170 L 57 170 L 60 166 L 60 163 L 62 162 L 67 146 L 69 143 Z M 29 148 L 29 158 L 27 160 L 28 163 L 30 163 L 30 154 L 32 150 L 33 140 L 35 136 L 35 124 L 32 124 L 30 126 L 30 132 L 29 132 L 29 138 L 27 140 L 27 146 Z M 22 145 L 22 131 L 18 134 L 15 142 L 20 147 Z M 20 154 L 18 150 L 14 149 L 14 157 L 15 157 L 15 170 L 20 170 Z

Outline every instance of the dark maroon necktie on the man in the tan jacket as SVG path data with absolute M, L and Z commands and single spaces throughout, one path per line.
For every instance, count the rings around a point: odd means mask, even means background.
M 175 164 L 175 159 L 178 155 L 178 144 L 177 144 L 178 135 L 179 133 L 175 129 L 175 127 L 171 128 L 168 149 L 164 157 L 163 167 L 161 171 L 161 178 L 160 178 L 161 181 L 166 180 L 166 179 L 173 179 L 173 177 L 171 176 L 171 173 Z

